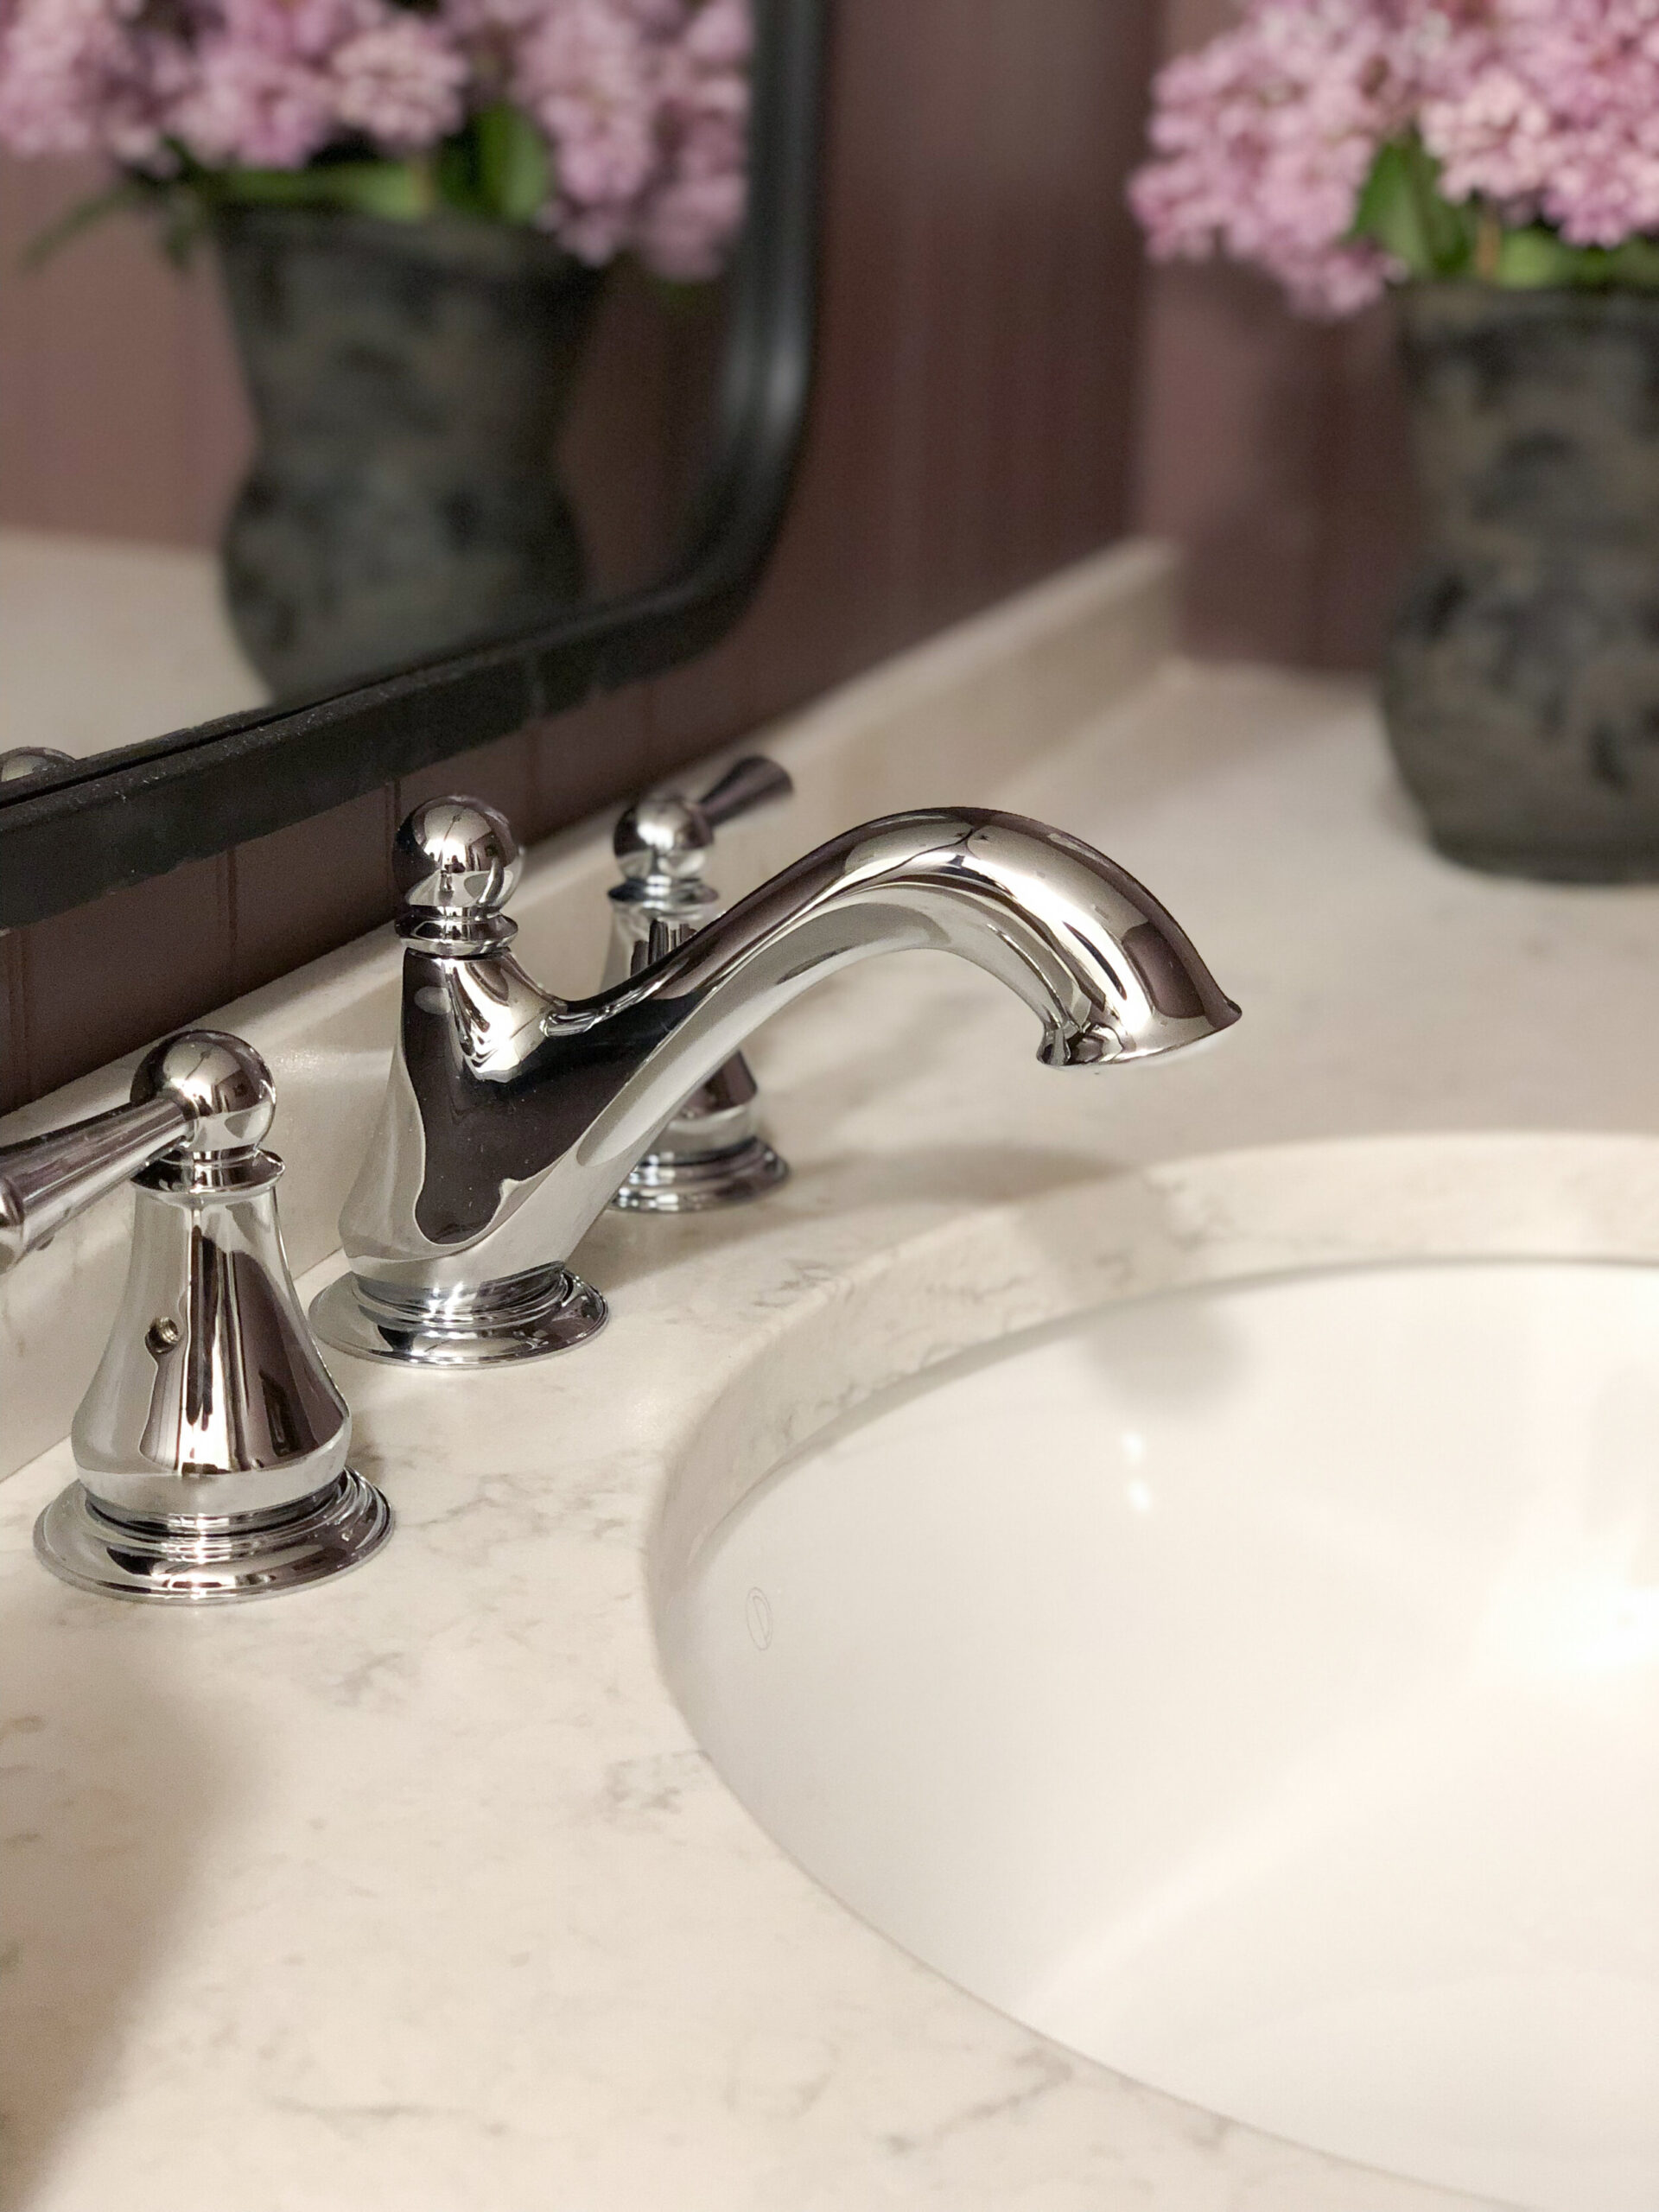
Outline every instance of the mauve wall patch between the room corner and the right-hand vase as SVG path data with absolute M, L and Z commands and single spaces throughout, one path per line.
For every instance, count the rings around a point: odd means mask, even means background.
M 1175 53 L 1232 7 L 1164 0 L 1161 13 Z M 1133 511 L 1188 549 L 1199 653 L 1371 666 L 1411 542 L 1389 307 L 1301 323 L 1243 270 L 1155 270 Z

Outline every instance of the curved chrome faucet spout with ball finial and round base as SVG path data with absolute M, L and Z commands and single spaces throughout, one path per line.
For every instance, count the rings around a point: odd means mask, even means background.
M 482 1367 L 593 1336 L 568 1261 L 633 1164 L 743 1040 L 874 953 L 947 951 L 1088 1068 L 1239 1020 L 1179 925 L 1117 863 L 1015 814 L 929 807 L 832 838 L 595 998 L 538 989 L 507 951 L 509 825 L 473 799 L 403 823 L 403 1011 L 380 1121 L 341 1214 L 352 1274 L 316 1334 L 369 1358 Z

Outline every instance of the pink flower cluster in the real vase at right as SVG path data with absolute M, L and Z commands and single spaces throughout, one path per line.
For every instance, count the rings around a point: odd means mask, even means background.
M 1659 232 L 1659 0 L 1243 0 L 1161 71 L 1130 197 L 1159 259 L 1228 252 L 1347 314 L 1396 274 L 1347 232 L 1413 126 L 1447 199 L 1573 246 Z

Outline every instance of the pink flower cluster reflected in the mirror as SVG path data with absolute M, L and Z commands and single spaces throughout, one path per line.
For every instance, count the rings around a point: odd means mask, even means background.
M 708 276 L 743 212 L 748 0 L 0 0 L 0 144 L 168 175 L 409 155 L 511 100 L 588 261 Z

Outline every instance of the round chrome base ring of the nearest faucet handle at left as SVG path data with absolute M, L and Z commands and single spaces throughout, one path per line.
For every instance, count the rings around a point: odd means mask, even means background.
M 71 1482 L 35 1522 L 60 1582 L 150 1606 L 226 1606 L 303 1590 L 361 1566 L 392 1535 L 392 1506 L 356 1469 L 268 1513 L 126 1515 Z

